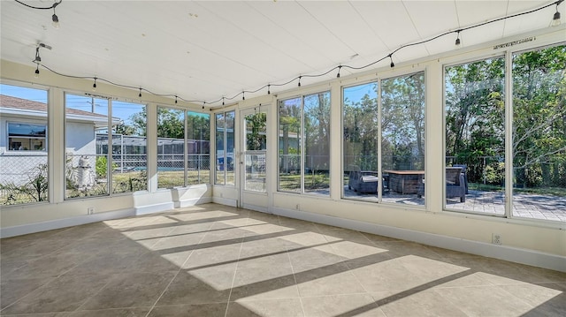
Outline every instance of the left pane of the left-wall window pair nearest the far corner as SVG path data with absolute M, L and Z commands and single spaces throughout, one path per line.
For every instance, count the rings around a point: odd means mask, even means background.
M 185 185 L 185 111 L 157 107 L 157 188 Z

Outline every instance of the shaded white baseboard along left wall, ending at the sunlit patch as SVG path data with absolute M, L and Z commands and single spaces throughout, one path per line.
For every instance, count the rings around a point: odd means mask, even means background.
M 105 220 L 125 218 L 135 215 L 134 208 L 114 210 L 93 215 L 78 215 L 72 218 L 50 220 L 42 223 L 27 223 L 19 226 L 6 227 L 0 230 L 0 238 L 10 238 L 35 232 L 61 229 L 87 223 L 98 223 Z

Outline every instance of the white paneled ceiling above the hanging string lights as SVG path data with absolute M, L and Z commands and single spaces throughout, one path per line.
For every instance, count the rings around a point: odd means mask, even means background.
M 55 29 L 52 10 L 2 0 L 0 53 L 2 59 L 34 65 L 35 47 L 43 42 L 53 49 L 41 50 L 42 64 L 54 71 L 212 102 L 339 64 L 370 64 L 403 44 L 551 2 L 64 0 L 57 6 L 60 27 Z M 562 21 L 565 8 L 566 3 L 559 6 Z M 460 37 L 463 46 L 470 46 L 521 34 L 548 27 L 554 13 L 555 5 L 474 28 Z M 393 59 L 398 64 L 452 49 L 455 34 L 402 49 Z M 386 59 L 374 67 L 388 64 Z M 302 85 L 335 76 L 334 71 L 303 78 Z M 271 90 L 293 85 L 296 81 Z M 246 97 L 260 94 L 267 94 L 267 89 Z

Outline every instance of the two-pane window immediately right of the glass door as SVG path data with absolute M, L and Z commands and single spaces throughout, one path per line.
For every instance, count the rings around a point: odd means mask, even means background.
M 280 192 L 330 195 L 330 92 L 279 101 Z

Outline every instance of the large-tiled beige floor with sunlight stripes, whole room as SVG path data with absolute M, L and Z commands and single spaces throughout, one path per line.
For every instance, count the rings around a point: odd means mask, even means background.
M 0 242 L 5 316 L 566 315 L 566 273 L 216 204 Z

